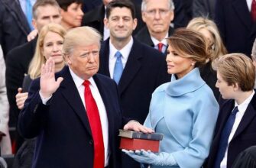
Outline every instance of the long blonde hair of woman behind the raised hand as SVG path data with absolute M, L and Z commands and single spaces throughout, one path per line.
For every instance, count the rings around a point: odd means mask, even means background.
M 66 30 L 60 26 L 60 24 L 47 24 L 41 29 L 37 39 L 34 57 L 28 67 L 28 74 L 31 76 L 31 79 L 36 79 L 41 75 L 41 66 L 46 63 L 46 58 L 42 54 L 42 49 L 44 46 L 44 37 L 48 32 L 59 34 L 63 38 L 66 34 Z

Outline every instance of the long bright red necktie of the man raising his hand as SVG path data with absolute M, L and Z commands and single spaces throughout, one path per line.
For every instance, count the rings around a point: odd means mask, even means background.
M 104 143 L 102 136 L 102 124 L 99 118 L 99 110 L 96 105 L 95 99 L 93 99 L 91 89 L 89 88 L 90 82 L 85 80 L 83 86 L 85 86 L 85 101 L 86 101 L 86 113 L 89 118 L 89 125 L 92 131 L 93 145 L 94 145 L 94 159 L 93 168 L 103 168 L 104 157 Z

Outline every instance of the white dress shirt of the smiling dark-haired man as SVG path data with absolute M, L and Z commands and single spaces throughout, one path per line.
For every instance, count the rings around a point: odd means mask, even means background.
M 128 44 L 126 44 L 126 46 L 123 47 L 122 50 L 119 50 L 119 52 L 122 53 L 122 64 L 124 69 L 125 69 L 125 65 L 127 63 L 129 54 L 131 52 L 132 45 L 133 45 L 133 38 L 131 37 L 131 40 L 128 42 Z M 114 76 L 114 68 L 115 68 L 115 62 L 116 62 L 115 53 L 117 51 L 118 50 L 111 43 L 111 40 L 109 40 L 109 73 L 112 79 Z

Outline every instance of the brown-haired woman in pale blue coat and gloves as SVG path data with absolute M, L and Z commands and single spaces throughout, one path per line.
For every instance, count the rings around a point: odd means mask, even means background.
M 200 76 L 209 58 L 205 38 L 178 29 L 168 38 L 167 71 L 170 82 L 153 93 L 144 125 L 164 134 L 159 153 L 124 150 L 142 167 L 199 168 L 208 157 L 219 105 Z

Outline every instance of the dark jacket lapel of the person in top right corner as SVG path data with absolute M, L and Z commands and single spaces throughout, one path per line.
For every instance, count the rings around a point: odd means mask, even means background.
M 245 27 L 247 27 L 248 30 L 251 31 L 251 14 L 248 10 L 246 1 L 234 0 L 232 2 L 232 7 L 235 9 L 236 14 L 238 15 L 238 19 L 245 24 Z

